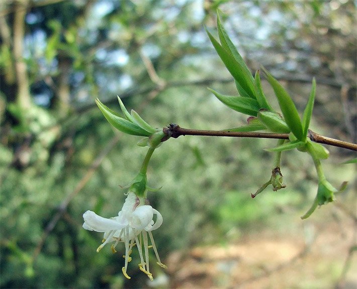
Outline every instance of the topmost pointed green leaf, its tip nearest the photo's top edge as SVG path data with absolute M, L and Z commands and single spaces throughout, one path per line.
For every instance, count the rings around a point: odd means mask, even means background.
M 247 76 L 247 78 L 250 78 L 250 81 L 253 82 L 253 75 L 251 74 L 249 68 L 245 64 L 242 56 L 238 53 L 237 49 L 235 48 L 234 44 L 228 37 L 227 32 L 225 31 L 221 19 L 219 17 L 219 13 L 217 14 L 217 29 L 218 29 L 218 37 L 221 42 L 222 47 L 226 50 L 229 51 L 234 59 L 239 63 L 242 72 Z

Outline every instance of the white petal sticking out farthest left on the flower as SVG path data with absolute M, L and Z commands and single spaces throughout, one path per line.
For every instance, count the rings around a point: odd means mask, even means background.
M 103 218 L 92 211 L 86 211 L 83 214 L 83 219 L 84 219 L 84 224 L 83 224 L 84 229 L 97 231 L 97 232 L 121 230 L 126 226 L 125 223 L 119 222 L 120 220 Z

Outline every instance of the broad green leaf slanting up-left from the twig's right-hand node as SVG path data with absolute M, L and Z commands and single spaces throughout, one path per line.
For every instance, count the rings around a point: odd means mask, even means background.
M 284 87 L 278 82 L 277 79 L 273 77 L 267 70 L 263 68 L 267 80 L 272 85 L 275 95 L 277 96 L 279 106 L 282 110 L 285 122 L 289 126 L 290 130 L 300 141 L 306 140 L 306 135 L 303 134 L 303 128 L 301 125 L 300 117 L 298 111 L 293 103 L 289 93 L 284 89 Z

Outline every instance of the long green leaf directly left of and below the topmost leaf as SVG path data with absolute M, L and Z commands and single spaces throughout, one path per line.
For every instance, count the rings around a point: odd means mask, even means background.
M 251 73 L 249 72 L 250 75 L 247 74 L 246 71 L 244 71 L 244 68 L 235 60 L 231 52 L 225 50 L 207 29 L 206 32 L 224 65 L 227 67 L 234 79 L 239 83 L 241 91 L 238 90 L 238 92 L 242 97 L 247 96 L 255 99 L 254 84 Z

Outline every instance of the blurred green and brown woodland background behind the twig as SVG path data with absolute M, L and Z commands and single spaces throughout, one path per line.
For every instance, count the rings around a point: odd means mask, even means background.
M 300 112 L 317 80 L 314 131 L 356 140 L 354 1 L 62 1 L 0 4 L 2 288 L 355 288 L 353 152 L 323 162 L 337 202 L 300 219 L 316 194 L 311 159 L 283 154 L 287 188 L 250 194 L 270 177 L 274 140 L 186 136 L 158 148 L 148 170 L 153 232 L 163 270 L 150 282 L 123 247 L 96 252 L 102 235 L 82 214 L 116 216 L 146 149 L 107 123 L 94 100 L 117 94 L 151 125 L 225 129 L 245 116 L 206 89 L 235 94 L 209 42 L 216 11 L 254 72 L 264 65 Z M 272 89 L 266 94 L 274 103 Z M 277 107 L 277 106 L 276 106 Z M 153 258 L 154 259 L 154 258 Z

